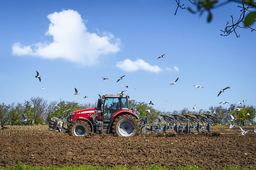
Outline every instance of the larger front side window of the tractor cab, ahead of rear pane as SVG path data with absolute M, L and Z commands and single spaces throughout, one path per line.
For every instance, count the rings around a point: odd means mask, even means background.
M 119 98 L 105 98 L 105 103 L 104 103 L 104 121 L 105 122 L 110 122 L 112 115 L 114 113 L 117 113 L 117 111 L 120 110 L 120 103 L 119 103 Z

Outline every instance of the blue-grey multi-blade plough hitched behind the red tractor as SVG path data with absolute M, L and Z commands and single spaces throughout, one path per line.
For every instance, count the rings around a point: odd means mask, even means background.
M 206 116 L 206 117 L 205 117 Z M 146 130 L 158 130 L 158 131 L 175 131 L 190 133 L 191 131 L 196 130 L 198 133 L 202 129 L 208 130 L 210 132 L 210 125 L 215 123 L 220 123 L 221 121 L 218 118 L 215 118 L 213 115 L 161 115 L 166 123 L 164 125 L 149 125 L 147 118 L 144 117 L 140 120 L 142 132 Z

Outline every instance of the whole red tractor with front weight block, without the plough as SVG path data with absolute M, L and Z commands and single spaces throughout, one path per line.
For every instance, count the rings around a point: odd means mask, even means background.
M 71 136 L 96 133 L 113 133 L 116 136 L 132 137 L 139 134 L 139 117 L 129 109 L 129 96 L 106 94 L 100 96 L 97 108 L 70 113 L 65 120 L 51 118 L 49 130 L 68 132 Z M 67 123 L 67 128 L 64 128 Z

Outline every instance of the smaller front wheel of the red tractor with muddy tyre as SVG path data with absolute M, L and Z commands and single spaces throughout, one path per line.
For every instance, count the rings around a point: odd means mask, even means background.
M 90 135 L 92 129 L 90 125 L 85 120 L 77 120 L 70 125 L 68 134 L 70 136 L 84 136 L 87 137 Z

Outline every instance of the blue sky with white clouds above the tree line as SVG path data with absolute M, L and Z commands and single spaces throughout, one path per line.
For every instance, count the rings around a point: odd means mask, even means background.
M 95 103 L 98 94 L 126 90 L 166 112 L 244 99 L 256 106 L 256 33 L 220 36 L 230 15 L 238 18 L 237 5 L 213 10 L 207 23 L 206 13 L 179 9 L 174 16 L 175 1 L 167 0 L 3 0 L 0 103 Z

